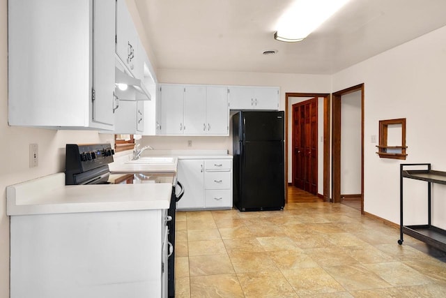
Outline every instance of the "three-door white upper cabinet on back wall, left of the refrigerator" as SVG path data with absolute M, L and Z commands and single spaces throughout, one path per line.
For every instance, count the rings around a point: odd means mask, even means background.
M 227 87 L 162 84 L 162 135 L 229 135 Z

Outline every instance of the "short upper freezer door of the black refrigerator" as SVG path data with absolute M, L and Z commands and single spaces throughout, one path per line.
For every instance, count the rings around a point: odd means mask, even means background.
M 283 141 L 284 111 L 240 112 L 244 141 Z

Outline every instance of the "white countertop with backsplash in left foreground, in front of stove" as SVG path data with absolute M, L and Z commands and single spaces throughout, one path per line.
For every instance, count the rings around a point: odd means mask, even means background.
M 6 214 L 61 214 L 168 209 L 172 184 L 65 185 L 65 174 L 6 188 Z

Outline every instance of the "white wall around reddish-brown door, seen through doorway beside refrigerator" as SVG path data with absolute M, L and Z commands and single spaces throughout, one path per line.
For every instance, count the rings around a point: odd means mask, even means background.
M 293 183 L 293 107 L 312 97 L 288 98 L 288 183 Z M 318 194 L 323 195 L 323 97 L 318 98 Z

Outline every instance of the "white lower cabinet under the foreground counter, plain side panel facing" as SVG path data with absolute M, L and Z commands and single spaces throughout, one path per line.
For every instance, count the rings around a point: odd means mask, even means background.
M 161 209 L 11 216 L 10 297 L 167 297 L 165 217 Z

